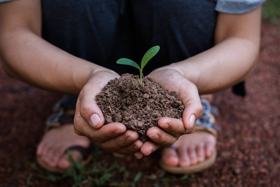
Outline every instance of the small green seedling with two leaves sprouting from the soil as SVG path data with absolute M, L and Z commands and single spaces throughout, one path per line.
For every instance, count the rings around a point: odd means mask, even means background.
M 128 58 L 120 58 L 117 61 L 117 64 L 125 64 L 125 65 L 130 65 L 132 67 L 136 67 L 140 71 L 140 85 L 142 85 L 142 71 L 146 64 L 148 63 L 149 60 L 151 60 L 152 57 L 154 57 L 158 51 L 160 50 L 160 46 L 153 46 L 153 48 L 150 48 L 144 55 L 144 57 L 141 60 L 141 67 L 134 62 L 133 60 L 130 60 Z

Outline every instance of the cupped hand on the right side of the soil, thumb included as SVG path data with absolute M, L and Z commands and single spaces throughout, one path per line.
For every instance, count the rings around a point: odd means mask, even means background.
M 172 66 L 155 69 L 148 77 L 167 89 L 169 92 L 175 91 L 179 99 L 183 102 L 185 109 L 181 119 L 164 117 L 158 121 L 162 128 L 151 127 L 147 135 L 152 141 L 146 141 L 141 147 L 140 153 L 136 153 L 137 158 L 149 155 L 160 146 L 170 146 L 183 134 L 192 133 L 195 130 L 195 122 L 202 115 L 202 104 L 200 95 L 195 84 L 188 81 L 179 70 Z

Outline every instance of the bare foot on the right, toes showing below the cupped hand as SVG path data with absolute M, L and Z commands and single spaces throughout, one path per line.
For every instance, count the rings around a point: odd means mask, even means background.
M 197 131 L 186 134 L 173 144 L 172 148 L 162 151 L 162 162 L 169 166 L 188 167 L 209 158 L 216 146 L 216 137 L 209 132 Z

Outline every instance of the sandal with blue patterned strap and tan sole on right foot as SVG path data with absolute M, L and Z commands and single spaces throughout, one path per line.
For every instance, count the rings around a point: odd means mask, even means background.
M 213 106 L 211 106 L 205 99 L 202 99 L 202 106 L 203 106 L 203 114 L 200 118 L 197 119 L 195 131 L 209 132 L 217 138 L 218 137 L 218 133 L 217 133 L 218 127 L 215 123 L 215 118 L 212 113 L 215 113 L 215 114 L 218 114 L 218 113 L 216 113 L 216 111 L 213 110 Z M 218 109 L 217 109 L 217 111 L 218 111 Z M 169 146 L 169 148 L 172 148 L 174 151 L 177 151 L 174 146 Z M 174 167 L 174 166 L 166 165 L 165 163 L 160 161 L 160 166 L 162 167 L 162 169 L 164 169 L 165 171 L 170 172 L 170 173 L 192 174 L 195 172 L 201 172 L 204 169 L 209 168 L 211 165 L 214 164 L 214 162 L 216 160 L 216 156 L 217 156 L 217 151 L 215 148 L 212 155 L 209 158 L 207 158 L 203 162 L 197 163 L 196 165 L 191 165 L 188 167 Z

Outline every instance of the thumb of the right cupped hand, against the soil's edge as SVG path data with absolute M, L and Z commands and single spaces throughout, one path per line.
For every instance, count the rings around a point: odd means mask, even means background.
M 202 104 L 197 87 L 188 81 L 184 81 L 179 88 L 179 99 L 183 102 L 183 124 L 187 130 L 195 126 L 197 118 L 202 115 Z

